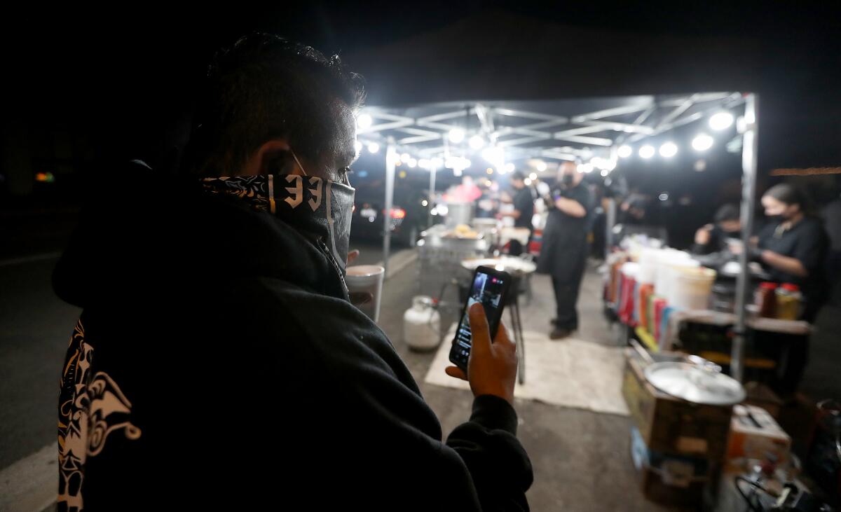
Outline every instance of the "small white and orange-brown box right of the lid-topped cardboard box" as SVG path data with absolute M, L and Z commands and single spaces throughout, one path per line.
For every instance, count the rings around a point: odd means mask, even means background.
M 733 407 L 727 442 L 728 464 L 738 465 L 740 459 L 764 460 L 769 456 L 783 463 L 788 460 L 790 451 L 791 437 L 768 411 L 754 405 Z

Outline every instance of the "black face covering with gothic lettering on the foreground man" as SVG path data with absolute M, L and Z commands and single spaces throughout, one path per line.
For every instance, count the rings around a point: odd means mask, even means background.
M 351 235 L 353 187 L 297 174 L 204 178 L 204 190 L 245 200 L 313 238 L 324 240 L 344 272 Z

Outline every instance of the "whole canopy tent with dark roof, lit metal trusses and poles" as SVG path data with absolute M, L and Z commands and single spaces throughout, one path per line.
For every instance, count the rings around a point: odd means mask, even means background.
M 602 171 L 610 172 L 621 144 L 744 103 L 739 132 L 747 245 L 757 168 L 756 96 L 696 91 L 760 90 L 760 46 L 749 38 L 603 31 L 490 11 L 344 58 L 369 84 L 369 117 L 361 119 L 359 129 L 362 145 L 388 146 L 387 209 L 392 206 L 394 167 L 404 152 L 410 153 L 410 161 L 431 169 L 431 188 L 439 165 L 460 172 L 473 164 L 468 149 L 479 151 L 500 172 L 510 170 L 510 161 L 533 156 L 596 158 L 604 165 Z M 619 95 L 626 98 L 615 98 Z M 588 100 L 592 103 L 557 99 L 594 96 L 614 98 Z M 532 102 L 521 103 L 528 100 Z M 386 262 L 389 237 L 386 228 Z M 747 266 L 743 254 L 732 362 L 733 376 L 739 379 Z

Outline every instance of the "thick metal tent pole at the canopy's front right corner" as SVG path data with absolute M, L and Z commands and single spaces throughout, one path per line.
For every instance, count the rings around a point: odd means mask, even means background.
M 736 328 L 733 332 L 733 353 L 730 356 L 730 374 L 742 382 L 744 378 L 745 302 L 748 297 L 748 247 L 754 228 L 754 202 L 756 197 L 757 121 L 759 105 L 756 94 L 748 94 L 744 105 L 742 131 L 742 244 L 736 282 Z

